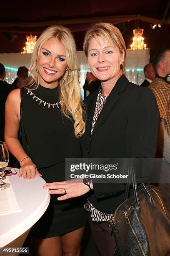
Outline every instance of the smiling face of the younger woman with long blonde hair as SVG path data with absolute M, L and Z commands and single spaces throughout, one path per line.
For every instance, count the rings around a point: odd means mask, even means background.
M 37 58 L 39 83 L 48 88 L 55 88 L 58 80 L 67 68 L 65 46 L 57 38 L 50 38 L 40 49 Z

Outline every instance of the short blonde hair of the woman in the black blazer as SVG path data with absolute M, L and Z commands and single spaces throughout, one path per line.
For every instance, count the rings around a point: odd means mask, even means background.
M 96 41 L 99 41 L 98 36 L 100 36 L 103 40 L 106 40 L 108 43 L 117 46 L 120 54 L 122 54 L 122 50 L 125 51 L 125 57 L 123 61 L 123 65 L 120 66 L 122 74 L 126 74 L 125 72 L 125 59 L 126 59 L 126 45 L 123 39 L 122 33 L 118 28 L 113 26 L 111 23 L 99 22 L 96 23 L 92 28 L 88 29 L 85 33 L 83 49 L 85 55 L 87 57 L 89 42 L 92 38 L 95 38 Z M 100 43 L 100 42 L 99 42 Z

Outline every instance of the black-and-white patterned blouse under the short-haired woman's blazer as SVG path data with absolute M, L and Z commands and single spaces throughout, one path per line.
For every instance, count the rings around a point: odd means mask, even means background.
M 102 95 L 102 87 L 100 87 L 99 93 L 97 95 L 97 101 L 96 101 L 96 106 L 95 106 L 95 112 L 93 115 L 93 120 L 92 120 L 92 129 L 91 129 L 91 135 L 92 131 L 95 127 L 96 120 L 100 114 L 100 111 L 102 110 L 103 105 L 106 102 L 108 96 L 103 96 Z M 109 221 L 112 219 L 113 214 L 112 213 L 105 213 L 105 212 L 100 212 L 97 210 L 92 203 L 90 202 L 89 198 L 87 199 L 87 202 L 85 203 L 85 210 L 87 212 L 90 212 L 92 221 L 97 221 L 97 222 L 103 222 L 103 221 Z

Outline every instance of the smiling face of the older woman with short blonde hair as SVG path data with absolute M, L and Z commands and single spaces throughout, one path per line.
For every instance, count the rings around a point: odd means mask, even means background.
M 120 65 L 124 61 L 124 51 L 120 54 L 117 46 L 110 45 L 100 36 L 98 40 L 90 40 L 87 59 L 92 74 L 101 82 L 117 80 L 122 74 Z

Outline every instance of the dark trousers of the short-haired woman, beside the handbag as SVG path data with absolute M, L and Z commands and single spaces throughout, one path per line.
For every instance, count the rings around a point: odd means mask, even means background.
M 92 221 L 90 212 L 88 213 L 92 236 L 101 256 L 113 256 L 116 248 L 115 237 L 108 222 Z

